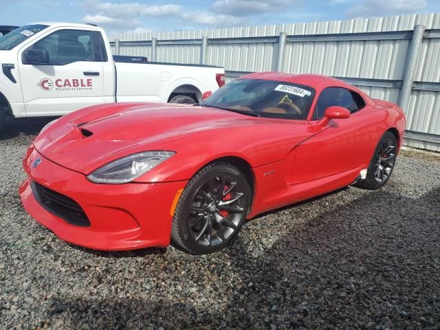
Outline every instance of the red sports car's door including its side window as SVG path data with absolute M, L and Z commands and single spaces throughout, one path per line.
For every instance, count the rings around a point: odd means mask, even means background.
M 317 126 L 331 106 L 349 109 L 349 118 L 330 120 L 325 127 Z M 360 94 L 341 87 L 321 91 L 316 102 L 311 126 L 314 135 L 298 146 L 294 166 L 294 183 L 328 178 L 368 166 L 371 157 L 371 126 L 374 115 Z

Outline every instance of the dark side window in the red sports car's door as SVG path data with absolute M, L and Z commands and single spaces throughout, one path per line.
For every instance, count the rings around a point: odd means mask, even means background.
M 359 107 L 360 105 L 364 107 L 365 102 L 355 92 L 340 87 L 328 87 L 321 92 L 318 102 L 316 102 L 313 119 L 321 119 L 324 116 L 325 110 L 329 107 L 344 107 L 353 113 L 362 109 L 362 107 Z

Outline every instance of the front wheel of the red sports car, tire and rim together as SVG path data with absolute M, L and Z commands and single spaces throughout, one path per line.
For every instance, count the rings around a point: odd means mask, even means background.
M 171 240 L 191 254 L 225 248 L 241 229 L 250 200 L 251 189 L 238 168 L 223 162 L 202 168 L 177 202 Z

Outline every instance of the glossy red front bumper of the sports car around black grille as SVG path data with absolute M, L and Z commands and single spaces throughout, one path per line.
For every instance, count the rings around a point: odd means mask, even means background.
M 35 159 L 41 164 L 32 167 Z M 30 146 L 23 159 L 28 178 L 19 192 L 29 214 L 60 239 L 95 250 L 165 247 L 170 243 L 173 201 L 187 181 L 158 184 L 94 184 L 85 175 L 59 166 Z M 44 208 L 31 182 L 69 197 L 83 209 L 90 225 L 73 225 Z

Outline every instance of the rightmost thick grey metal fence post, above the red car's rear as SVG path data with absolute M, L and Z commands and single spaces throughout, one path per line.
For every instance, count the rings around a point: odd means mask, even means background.
M 406 110 L 410 102 L 412 91 L 412 83 L 414 83 L 415 70 L 417 68 L 417 61 L 419 59 L 421 43 L 423 41 L 423 32 L 425 32 L 425 25 L 415 25 L 412 31 L 412 39 L 408 47 L 406 55 L 406 65 L 404 68 L 404 80 L 401 83 L 399 95 L 399 107 Z

